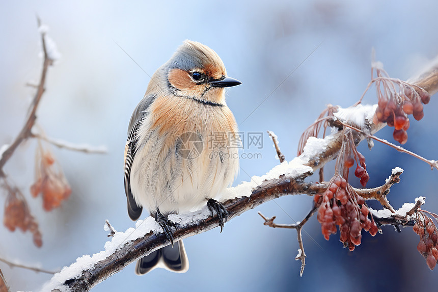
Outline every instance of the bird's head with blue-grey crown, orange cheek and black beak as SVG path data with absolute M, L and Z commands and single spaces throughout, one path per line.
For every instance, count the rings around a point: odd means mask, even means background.
M 174 95 L 223 104 L 225 87 L 241 84 L 227 76 L 216 52 L 199 42 L 186 40 L 163 66 Z

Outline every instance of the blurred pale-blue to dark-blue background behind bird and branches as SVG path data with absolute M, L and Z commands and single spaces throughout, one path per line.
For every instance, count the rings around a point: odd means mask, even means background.
M 185 39 L 202 42 L 221 56 L 228 74 L 243 83 L 227 92 L 239 129 L 263 133 L 260 149 L 254 145 L 243 149 L 243 153 L 260 153 L 261 157 L 241 159 L 236 185 L 279 163 L 266 130 L 278 135 L 283 153 L 291 160 L 301 133 L 325 104 L 348 107 L 359 99 L 371 78 L 373 47 L 388 73 L 401 79 L 433 59 L 438 54 L 436 11 L 438 2 L 433 0 L 1 2 L 0 145 L 10 143 L 23 125 L 34 95 L 25 83 L 40 77 L 38 15 L 62 54 L 49 69 L 38 124 L 49 137 L 106 145 L 108 153 L 51 147 L 72 194 L 60 208 L 47 213 L 41 198 L 31 198 L 29 192 L 36 141 L 21 146 L 5 171 L 28 199 L 40 224 L 43 246 L 36 248 L 29 232 L 11 233 L 2 225 L 0 257 L 47 270 L 61 269 L 83 254 L 103 250 L 105 219 L 120 231 L 134 226 L 123 189 L 127 125 L 150 79 L 144 71 L 152 75 Z M 374 87 L 365 102 L 376 103 Z M 405 144 L 429 159 L 436 158 L 437 107 L 438 100 L 432 96 L 424 107 L 424 119 L 411 119 Z M 392 130 L 385 128 L 378 136 L 394 141 Z M 438 211 L 436 171 L 378 143 L 372 151 L 361 145 L 360 151 L 371 176 L 368 187 L 384 183 L 396 166 L 405 170 L 389 195 L 395 208 L 426 196 L 424 208 Z M 333 165 L 327 166 L 326 178 L 333 172 Z M 352 177 L 351 184 L 359 186 L 359 180 Z M 0 192 L 0 204 L 5 198 L 6 193 Z M 348 252 L 339 242 L 339 233 L 324 240 L 316 218 L 305 227 L 308 257 L 300 278 L 300 263 L 294 260 L 296 232 L 264 226 L 257 211 L 277 216 L 277 223 L 293 223 L 306 216 L 311 204 L 312 198 L 305 195 L 279 198 L 230 221 L 222 234 L 216 228 L 187 238 L 190 269 L 186 274 L 155 270 L 138 277 L 132 264 L 93 291 L 156 291 L 162 287 L 178 291 L 410 291 L 438 285 L 438 271 L 430 271 L 418 253 L 419 238 L 412 228 L 400 234 L 386 226 L 384 234 L 375 237 L 363 233 L 362 244 Z M 51 277 L 11 269 L 2 262 L 0 269 L 12 290 L 36 291 Z

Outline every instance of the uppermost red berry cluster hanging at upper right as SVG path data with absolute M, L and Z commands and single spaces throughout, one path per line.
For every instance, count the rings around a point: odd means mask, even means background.
M 399 91 L 395 92 L 395 86 Z M 409 118 L 413 115 L 417 121 L 424 116 L 423 104 L 430 101 L 430 94 L 418 87 L 392 79 L 379 79 L 376 81 L 378 106 L 374 114 L 374 122 L 384 122 L 394 127 L 394 140 L 400 144 L 407 142 Z

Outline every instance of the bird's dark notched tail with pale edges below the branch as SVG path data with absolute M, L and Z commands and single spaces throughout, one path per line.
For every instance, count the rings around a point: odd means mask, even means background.
M 174 246 L 165 246 L 139 259 L 135 266 L 135 274 L 141 276 L 155 268 L 163 268 L 175 273 L 185 273 L 188 270 L 188 258 L 182 240 Z

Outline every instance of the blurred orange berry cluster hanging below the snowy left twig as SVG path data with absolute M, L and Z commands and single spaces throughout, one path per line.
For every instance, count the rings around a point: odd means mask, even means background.
M 36 181 L 31 186 L 31 194 L 35 198 L 42 193 L 43 207 L 46 211 L 50 211 L 59 207 L 61 202 L 70 196 L 71 189 L 62 171 L 56 171 L 53 155 L 43 151 L 42 148 L 39 150 L 40 155 L 37 155 L 37 160 L 40 167 L 37 168 Z

